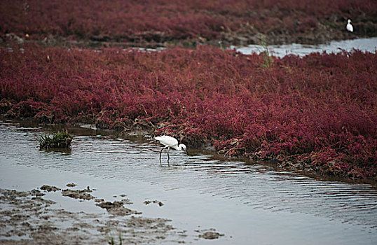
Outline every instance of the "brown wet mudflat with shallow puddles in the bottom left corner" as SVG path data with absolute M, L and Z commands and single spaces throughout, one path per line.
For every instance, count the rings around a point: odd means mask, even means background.
M 167 218 L 142 217 L 128 209 L 130 200 L 107 202 L 93 197 L 88 190 L 61 190 L 41 186 L 27 192 L 0 189 L 0 244 L 184 244 L 186 230 L 177 230 Z M 102 214 L 72 212 L 52 207 L 43 199 L 46 192 L 61 190 L 62 195 L 78 200 L 92 200 L 106 209 Z M 125 195 L 120 195 L 125 196 Z M 157 200 L 150 203 L 162 204 Z M 79 204 L 78 204 L 79 205 Z M 196 230 L 197 239 L 218 239 L 214 229 Z

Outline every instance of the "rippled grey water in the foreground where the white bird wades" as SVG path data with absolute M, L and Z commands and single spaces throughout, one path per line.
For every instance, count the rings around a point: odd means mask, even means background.
M 221 161 L 205 153 L 171 151 L 144 138 L 119 139 L 94 130 L 69 130 L 71 151 L 39 151 L 41 127 L 0 121 L 0 188 L 44 184 L 97 189 L 97 197 L 125 194 L 143 216 L 171 218 L 194 244 L 376 244 L 377 190 L 369 184 L 318 181 L 270 165 Z M 103 212 L 92 202 L 47 195 L 70 211 Z M 159 200 L 165 205 L 143 204 Z M 195 230 L 225 236 L 197 239 Z

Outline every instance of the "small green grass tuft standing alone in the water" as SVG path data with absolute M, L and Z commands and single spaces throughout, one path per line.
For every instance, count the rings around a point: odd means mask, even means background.
M 39 148 L 49 149 L 49 148 L 69 148 L 72 141 L 71 135 L 67 130 L 58 131 L 53 134 L 42 134 L 38 137 Z

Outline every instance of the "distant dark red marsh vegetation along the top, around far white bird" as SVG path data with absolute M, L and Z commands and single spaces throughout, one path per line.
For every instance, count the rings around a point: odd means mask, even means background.
M 352 19 L 355 33 L 345 31 Z M 324 42 L 376 36 L 373 0 L 0 1 L 0 36 L 177 43 Z

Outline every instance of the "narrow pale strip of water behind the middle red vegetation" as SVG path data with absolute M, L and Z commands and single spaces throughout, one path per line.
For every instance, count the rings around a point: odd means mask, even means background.
M 247 45 L 246 47 L 231 46 L 231 49 L 235 48 L 242 54 L 249 55 L 253 52 L 263 52 L 261 45 Z M 356 38 L 343 41 L 331 41 L 329 43 L 320 45 L 306 45 L 306 44 L 286 44 L 286 45 L 268 45 L 267 46 L 270 55 L 275 57 L 284 57 L 285 55 L 309 55 L 311 52 L 327 52 L 337 53 L 342 50 L 351 51 L 352 49 L 362 50 L 363 52 L 376 53 L 377 50 L 377 37 L 374 38 Z

